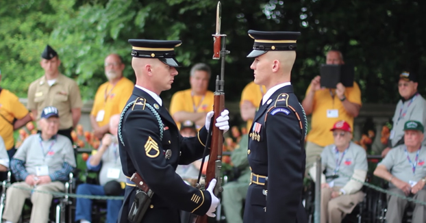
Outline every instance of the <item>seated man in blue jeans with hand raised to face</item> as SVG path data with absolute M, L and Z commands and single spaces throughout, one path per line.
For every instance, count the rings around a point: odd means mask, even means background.
M 84 183 L 77 187 L 77 194 L 99 195 L 99 196 L 123 196 L 124 189 L 121 184 L 126 181 L 121 168 L 120 151 L 118 150 L 118 121 L 120 115 L 116 114 L 110 118 L 110 134 L 105 134 L 102 138 L 101 146 L 97 153 L 89 157 L 86 161 L 88 170 L 99 172 L 99 184 L 93 185 Z M 116 223 L 118 211 L 120 211 L 123 200 L 107 200 L 107 223 Z M 88 223 L 92 220 L 92 200 L 77 198 L 75 207 L 75 221 Z

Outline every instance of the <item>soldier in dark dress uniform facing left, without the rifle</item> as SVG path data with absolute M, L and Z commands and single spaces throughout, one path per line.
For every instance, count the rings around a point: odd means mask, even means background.
M 307 122 L 290 83 L 300 33 L 249 30 L 249 36 L 254 82 L 265 86 L 266 94 L 249 131 L 244 222 L 308 222 L 302 205 Z

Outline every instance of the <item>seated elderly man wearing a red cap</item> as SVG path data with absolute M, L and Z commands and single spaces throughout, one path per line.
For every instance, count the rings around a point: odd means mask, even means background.
M 334 144 L 325 146 L 321 153 L 321 223 L 340 223 L 364 199 L 361 191 L 368 170 L 364 148 L 351 142 L 348 122 L 338 121 L 333 128 Z M 316 164 L 310 169 L 315 181 Z M 351 179 L 351 177 L 353 179 Z

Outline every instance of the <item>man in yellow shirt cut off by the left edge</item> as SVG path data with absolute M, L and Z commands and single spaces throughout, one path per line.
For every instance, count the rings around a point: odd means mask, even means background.
M 32 117 L 27 108 L 19 101 L 18 97 L 12 92 L 0 88 L 0 137 L 3 138 L 9 159 L 16 152 L 13 131 L 23 127 L 31 120 Z M 9 167 L 7 166 L 6 168 Z M 0 181 L 5 180 L 6 177 L 6 174 L 0 173 Z

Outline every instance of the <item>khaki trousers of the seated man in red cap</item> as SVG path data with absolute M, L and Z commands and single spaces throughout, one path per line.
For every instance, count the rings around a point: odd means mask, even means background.
M 345 215 L 351 213 L 359 202 L 364 200 L 363 192 L 341 195 L 331 199 L 331 192 L 342 187 L 321 189 L 321 223 L 340 223 Z

